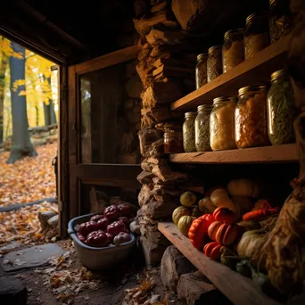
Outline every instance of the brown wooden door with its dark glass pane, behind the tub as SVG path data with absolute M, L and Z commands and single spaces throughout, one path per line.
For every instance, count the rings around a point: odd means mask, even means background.
M 116 164 L 113 158 L 120 64 L 138 52 L 130 46 L 69 67 L 69 218 L 87 204 L 81 202 L 83 185 L 138 187 L 139 164 Z

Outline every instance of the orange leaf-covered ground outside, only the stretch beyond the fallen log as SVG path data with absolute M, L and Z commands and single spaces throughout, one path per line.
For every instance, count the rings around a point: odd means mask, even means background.
M 37 146 L 37 157 L 6 164 L 10 152 L 0 153 L 0 207 L 55 197 L 52 160 L 57 144 Z

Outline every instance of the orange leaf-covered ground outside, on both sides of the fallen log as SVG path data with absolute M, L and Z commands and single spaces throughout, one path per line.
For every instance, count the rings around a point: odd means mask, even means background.
M 38 156 L 6 164 L 9 152 L 0 153 L 0 207 L 14 203 L 35 202 L 55 197 L 56 182 L 52 160 L 57 144 L 38 146 Z M 43 243 L 37 218 L 39 211 L 58 210 L 57 204 L 44 202 L 19 210 L 0 212 L 0 244 Z

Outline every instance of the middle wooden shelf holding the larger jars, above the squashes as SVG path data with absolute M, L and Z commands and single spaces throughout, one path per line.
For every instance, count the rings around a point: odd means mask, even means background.
M 170 154 L 176 163 L 280 163 L 297 162 L 296 144 L 235 149 L 219 152 L 185 152 Z

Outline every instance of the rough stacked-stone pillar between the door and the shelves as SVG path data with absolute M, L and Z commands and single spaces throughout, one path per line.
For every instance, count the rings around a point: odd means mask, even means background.
M 182 192 L 177 182 L 190 179 L 171 169 L 163 153 L 163 133 L 181 129 L 182 122 L 170 113 L 169 104 L 194 90 L 196 56 L 188 53 L 190 45 L 184 43 L 185 34 L 169 1 L 136 1 L 135 6 L 138 18 L 134 22 L 142 46 L 136 70 L 144 85 L 138 133 L 144 160 L 137 177 L 142 184 L 138 196 L 141 209 L 131 229 L 141 234 L 146 264 L 152 265 L 161 261 L 169 245 L 158 231 L 158 220 L 171 217 Z

